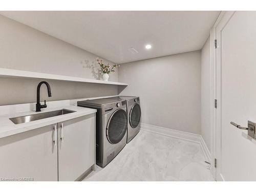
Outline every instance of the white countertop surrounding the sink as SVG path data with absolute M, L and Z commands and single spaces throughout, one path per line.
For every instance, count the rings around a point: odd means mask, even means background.
M 33 114 L 51 112 L 51 111 L 56 111 L 56 110 L 61 110 L 61 109 L 67 109 L 67 110 L 71 110 L 71 111 L 75 111 L 75 112 L 65 114 L 65 115 L 59 115 L 59 116 L 55 116 L 55 117 L 49 117 L 49 118 L 45 118 L 45 119 L 35 120 L 35 121 L 27 122 L 27 123 L 20 123 L 20 124 L 14 124 L 10 120 L 10 118 L 13 118 L 13 117 L 33 115 Z M 58 106 L 57 108 L 44 109 L 44 111 L 41 111 L 41 112 L 28 111 L 28 112 L 19 112 L 19 113 L 2 115 L 2 116 L 0 116 L 0 138 L 14 135 L 17 133 L 26 132 L 29 130 L 34 130 L 39 127 L 47 126 L 47 125 L 54 124 L 54 123 L 61 122 L 61 121 L 67 121 L 69 119 L 81 117 L 84 115 L 89 115 L 89 114 L 96 113 L 96 112 L 97 112 L 97 110 L 95 110 L 95 109 L 82 108 L 80 106 L 66 105 L 66 106 Z

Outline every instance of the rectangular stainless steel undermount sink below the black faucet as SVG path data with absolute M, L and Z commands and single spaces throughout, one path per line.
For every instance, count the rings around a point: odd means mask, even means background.
M 65 115 L 65 114 L 69 114 L 69 113 L 73 113 L 73 112 L 75 112 L 75 111 L 62 109 L 62 110 L 51 111 L 51 112 L 46 112 L 46 113 L 38 113 L 38 114 L 33 114 L 33 115 L 14 117 L 14 118 L 10 118 L 10 120 L 15 124 L 20 124 L 20 123 L 26 123 L 26 122 L 30 122 L 30 121 L 39 120 L 39 119 L 46 119 L 49 117 Z

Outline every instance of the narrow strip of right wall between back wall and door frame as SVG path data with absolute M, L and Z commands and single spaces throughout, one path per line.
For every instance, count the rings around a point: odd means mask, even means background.
M 210 38 L 205 42 L 201 53 L 201 135 L 210 150 L 210 103 L 211 102 L 211 64 L 210 64 Z

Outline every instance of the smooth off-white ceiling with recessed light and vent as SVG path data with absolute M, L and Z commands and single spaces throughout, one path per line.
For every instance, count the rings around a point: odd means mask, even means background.
M 202 49 L 220 11 L 0 11 L 116 63 Z M 145 45 L 152 49 L 146 50 Z M 131 53 L 134 48 L 138 53 Z

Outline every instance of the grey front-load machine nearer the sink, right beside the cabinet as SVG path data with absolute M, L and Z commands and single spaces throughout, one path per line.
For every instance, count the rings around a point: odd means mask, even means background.
M 123 99 L 78 101 L 77 106 L 93 108 L 96 113 L 96 164 L 104 167 L 122 150 L 127 138 L 127 109 Z

